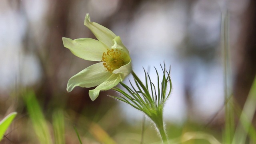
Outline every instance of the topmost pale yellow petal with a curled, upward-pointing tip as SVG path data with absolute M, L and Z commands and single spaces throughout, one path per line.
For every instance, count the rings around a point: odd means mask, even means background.
M 116 34 L 96 22 L 91 22 L 88 13 L 85 16 L 84 25 L 92 31 L 100 42 L 104 43 L 109 48 L 114 45 L 113 39 L 116 37 Z

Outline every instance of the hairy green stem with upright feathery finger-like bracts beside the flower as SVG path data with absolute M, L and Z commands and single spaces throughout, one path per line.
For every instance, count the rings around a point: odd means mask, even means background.
M 115 87 L 113 90 L 119 92 L 121 95 L 111 96 L 116 98 L 130 106 L 143 112 L 148 118 L 155 124 L 158 134 L 162 138 L 162 142 L 167 144 L 167 134 L 165 130 L 165 124 L 163 122 L 163 109 L 166 100 L 168 100 L 171 90 L 172 81 L 170 78 L 170 66 L 166 69 L 166 65 L 161 65 L 162 78 L 156 67 L 154 67 L 157 77 L 157 83 L 153 83 L 148 72 L 144 70 L 145 81 L 142 82 L 140 78 L 132 71 L 133 81 L 129 80 L 130 86 L 127 86 L 123 82 L 120 84 L 124 87 L 124 90 Z

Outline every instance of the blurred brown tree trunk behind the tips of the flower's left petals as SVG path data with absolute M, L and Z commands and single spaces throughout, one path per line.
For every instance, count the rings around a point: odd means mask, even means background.
M 48 105 L 50 100 L 53 100 L 56 93 L 60 92 L 60 66 L 64 59 L 65 51 L 63 50 L 62 37 L 66 35 L 68 30 L 68 14 L 72 7 L 70 0 L 54 0 L 49 1 L 49 10 L 47 17 L 48 33 L 43 46 L 43 51 L 38 51 L 37 55 L 40 58 L 43 76 L 42 89 L 38 94 L 44 98 L 44 107 Z M 65 102 L 65 99 L 59 101 Z

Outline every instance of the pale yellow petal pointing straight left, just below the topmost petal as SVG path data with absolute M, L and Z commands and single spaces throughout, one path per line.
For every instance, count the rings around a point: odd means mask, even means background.
M 72 40 L 70 38 L 62 38 L 63 44 L 70 51 L 84 60 L 101 61 L 103 52 L 107 48 L 98 40 L 92 38 L 79 38 Z

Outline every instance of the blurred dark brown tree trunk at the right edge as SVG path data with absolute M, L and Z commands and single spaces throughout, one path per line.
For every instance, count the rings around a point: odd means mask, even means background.
M 256 1 L 250 0 L 248 8 L 244 13 L 244 22 L 239 42 L 238 56 L 236 61 L 236 73 L 234 80 L 234 96 L 236 102 L 243 108 L 250 87 L 256 75 Z M 255 125 L 254 118 L 254 125 Z

